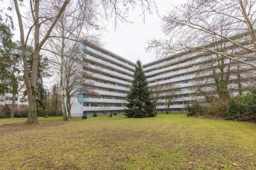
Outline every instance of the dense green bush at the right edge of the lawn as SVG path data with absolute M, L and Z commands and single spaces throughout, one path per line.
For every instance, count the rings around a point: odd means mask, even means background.
M 226 118 L 227 120 L 256 122 L 256 93 L 250 92 L 230 98 Z

